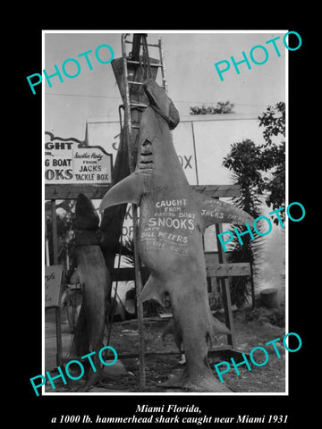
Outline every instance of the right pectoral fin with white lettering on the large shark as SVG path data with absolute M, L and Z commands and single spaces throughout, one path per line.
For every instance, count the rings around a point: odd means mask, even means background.
M 204 228 L 214 223 L 253 223 L 254 219 L 250 214 L 244 212 L 241 208 L 233 204 L 220 201 L 216 198 L 210 198 L 206 195 L 196 192 L 200 202 L 200 213 Z

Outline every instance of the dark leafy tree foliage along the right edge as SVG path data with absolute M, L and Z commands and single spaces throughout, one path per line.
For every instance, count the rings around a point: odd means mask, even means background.
M 268 106 L 259 117 L 259 127 L 263 127 L 265 143 L 255 145 L 250 139 L 233 143 L 223 164 L 233 172 L 233 183 L 241 187 L 241 195 L 234 198 L 234 204 L 251 214 L 255 219 L 260 215 L 260 196 L 265 196 L 267 206 L 274 209 L 285 205 L 285 104 Z M 280 212 L 283 218 L 284 212 Z M 278 220 L 274 220 L 278 223 Z M 257 227 L 260 229 L 259 222 Z M 245 226 L 235 226 L 240 233 Z M 256 271 L 261 240 L 252 241 L 250 234 L 242 236 L 243 244 L 233 240 L 231 262 L 249 262 L 252 272 Z M 238 307 L 249 299 L 253 284 L 246 277 L 235 277 L 232 282 L 232 300 Z M 254 305 L 254 302 L 253 302 Z

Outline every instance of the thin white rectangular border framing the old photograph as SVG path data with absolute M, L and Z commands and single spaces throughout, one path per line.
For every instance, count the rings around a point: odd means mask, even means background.
M 287 33 L 288 29 L 246 29 L 246 30 L 236 30 L 236 29 L 225 29 L 225 30 L 198 30 L 198 29 L 113 29 L 113 30 L 89 30 L 89 29 L 80 29 L 80 30 L 54 30 L 54 29 L 43 29 L 42 30 L 42 70 L 45 69 L 45 35 L 46 34 L 59 34 L 59 33 L 70 33 L 70 34 L 77 34 L 77 33 L 83 33 L 83 34 L 94 34 L 94 33 L 106 33 L 106 34 L 121 34 L 121 33 L 164 33 L 164 34 L 240 34 L 240 33 L 246 33 L 246 34 L 267 34 L 267 33 Z M 289 198 L 289 192 L 288 192 L 288 121 L 289 121 L 289 114 L 288 114 L 288 70 L 289 70 L 289 63 L 288 63 L 288 54 L 289 50 L 285 49 L 285 147 L 286 147 L 286 195 L 285 195 L 285 206 L 288 205 L 288 198 Z M 45 145 L 45 85 L 42 85 L 42 147 Z M 45 151 L 42 150 L 42 178 L 44 178 L 44 165 L 45 165 Z M 42 180 L 42 189 L 41 189 L 41 195 L 42 195 L 42 206 L 41 206 L 41 212 L 42 212 L 42 236 L 41 236 L 41 248 L 42 248 L 42 374 L 45 374 L 45 181 Z M 288 218 L 285 216 L 285 332 L 288 332 L 288 325 L 289 325 L 289 275 L 288 275 L 288 269 L 289 269 L 289 261 L 288 261 Z M 42 386 L 41 388 L 41 395 L 42 396 L 229 396 L 229 397 L 236 397 L 236 396 L 288 396 L 289 395 L 289 356 L 288 353 L 285 353 L 285 391 L 284 392 L 46 392 L 45 386 Z

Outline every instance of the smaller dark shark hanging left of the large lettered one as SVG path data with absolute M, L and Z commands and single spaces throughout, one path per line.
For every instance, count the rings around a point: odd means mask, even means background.
M 83 302 L 76 325 L 73 351 L 77 356 L 95 351 L 93 361 L 101 367 L 98 352 L 103 346 L 106 312 L 110 306 L 112 282 L 103 257 L 98 230 L 99 217 L 90 199 L 80 193 L 75 207 L 75 253 L 78 276 L 83 289 Z M 87 390 L 95 384 L 99 371 L 89 371 Z

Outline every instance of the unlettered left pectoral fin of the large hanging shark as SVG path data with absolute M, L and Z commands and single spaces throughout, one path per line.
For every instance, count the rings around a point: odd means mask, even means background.
M 143 181 L 140 174 L 132 172 L 130 176 L 125 177 L 123 181 L 119 181 L 106 192 L 99 205 L 99 211 L 102 212 L 107 207 L 123 203 L 139 204 L 143 190 Z

